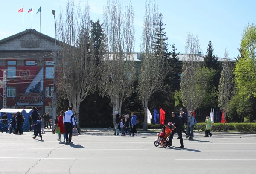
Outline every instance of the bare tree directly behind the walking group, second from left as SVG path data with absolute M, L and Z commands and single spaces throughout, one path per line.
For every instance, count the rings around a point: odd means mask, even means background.
M 124 9 L 123 9 L 124 7 Z M 132 92 L 134 64 L 134 9 L 120 0 L 108 0 L 104 9 L 104 28 L 107 51 L 100 65 L 102 70 L 99 89 L 113 105 L 113 116 L 121 113 L 122 101 Z M 113 119 L 115 125 L 115 116 Z

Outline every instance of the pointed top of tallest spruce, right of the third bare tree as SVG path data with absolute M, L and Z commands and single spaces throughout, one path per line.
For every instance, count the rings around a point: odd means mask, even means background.
M 168 38 L 166 37 L 166 32 L 164 31 L 166 24 L 163 23 L 163 14 L 158 14 L 157 27 L 154 33 L 154 53 L 157 58 L 169 58 L 171 55 L 169 50 Z

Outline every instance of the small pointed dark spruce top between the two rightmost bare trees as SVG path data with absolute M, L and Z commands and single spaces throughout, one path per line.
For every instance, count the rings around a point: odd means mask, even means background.
M 204 57 L 204 64 L 208 68 L 212 68 L 214 70 L 217 70 L 219 67 L 218 58 L 213 54 L 213 47 L 212 47 L 212 41 L 209 41 L 206 56 Z

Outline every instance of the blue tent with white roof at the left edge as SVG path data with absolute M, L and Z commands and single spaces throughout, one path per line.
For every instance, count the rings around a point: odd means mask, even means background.
M 0 110 L 0 116 L 2 118 L 3 114 L 6 113 L 8 120 L 10 121 L 12 119 L 12 113 L 20 112 L 23 114 L 25 120 L 23 124 L 23 131 L 26 129 L 29 129 L 29 116 L 32 113 L 32 109 L 1 109 Z

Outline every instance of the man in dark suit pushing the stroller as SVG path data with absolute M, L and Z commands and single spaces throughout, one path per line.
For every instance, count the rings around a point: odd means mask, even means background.
M 181 133 L 183 130 L 183 125 L 182 125 L 181 119 L 179 116 L 176 115 L 175 112 L 172 112 L 172 117 L 174 118 L 173 126 L 176 126 L 176 131 L 178 133 L 178 136 L 180 137 L 180 147 L 178 147 L 178 148 L 184 148 L 184 143 L 183 143 L 182 133 Z M 172 134 L 170 136 L 170 144 L 171 145 L 172 145 L 173 134 L 174 134 L 174 131 L 172 131 Z

